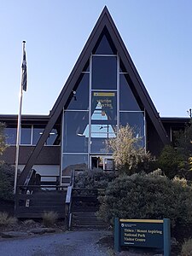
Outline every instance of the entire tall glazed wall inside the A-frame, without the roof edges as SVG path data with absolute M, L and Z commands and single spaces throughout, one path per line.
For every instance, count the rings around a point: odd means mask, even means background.
M 144 116 L 129 73 L 104 28 L 63 109 L 61 171 L 89 166 L 95 156 L 112 157 L 107 142 L 120 125 L 131 125 L 144 147 Z

